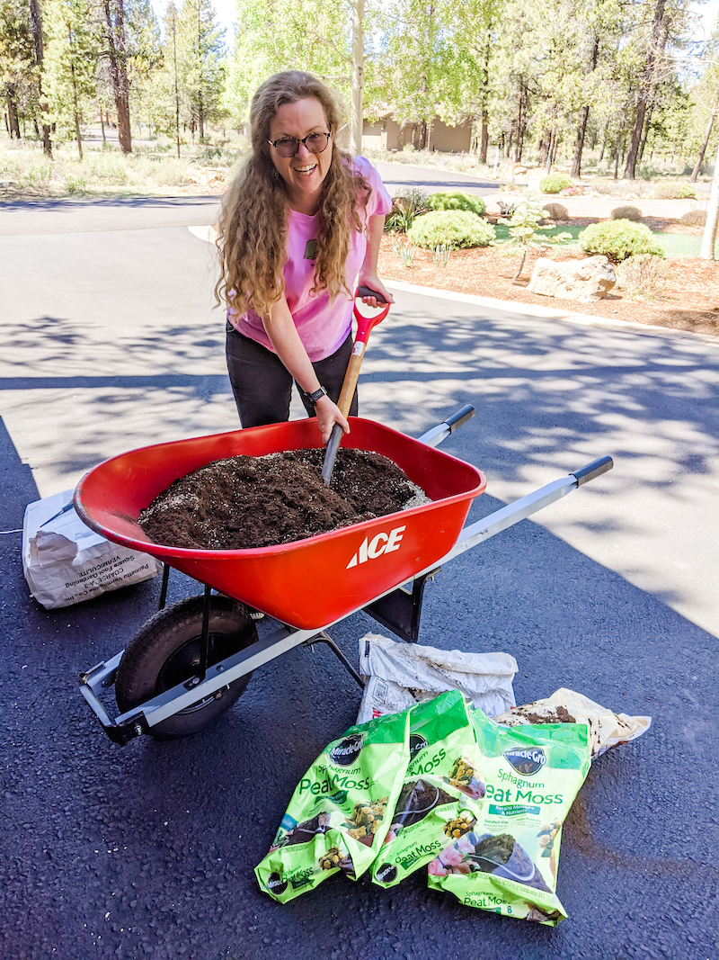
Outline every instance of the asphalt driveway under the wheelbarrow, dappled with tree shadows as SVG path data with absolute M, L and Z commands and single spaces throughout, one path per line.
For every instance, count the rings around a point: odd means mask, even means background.
M 0 529 L 107 456 L 237 426 L 211 252 L 187 229 L 211 208 L 3 210 Z M 159 585 L 44 611 L 19 536 L 3 534 L 4 956 L 452 960 L 472 942 L 488 960 L 714 960 L 716 350 L 472 300 L 397 300 L 373 333 L 361 412 L 416 436 L 474 403 L 443 446 L 487 474 L 471 518 L 615 457 L 609 474 L 448 564 L 420 637 L 512 654 L 518 703 L 568 686 L 653 717 L 593 765 L 569 813 L 568 921 L 473 912 L 418 875 L 391 892 L 330 880 L 285 907 L 262 897 L 252 868 L 293 785 L 353 723 L 354 682 L 328 651 L 296 649 L 207 732 L 115 747 L 77 675 L 127 643 Z M 191 589 L 177 576 L 171 599 Z M 373 629 L 359 613 L 332 636 L 354 660 Z

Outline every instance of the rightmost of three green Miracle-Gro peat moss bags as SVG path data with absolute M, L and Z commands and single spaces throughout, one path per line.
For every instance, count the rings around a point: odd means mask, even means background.
M 554 926 L 562 824 L 590 769 L 586 724 L 500 727 L 472 711 L 486 803 L 429 863 L 429 886 L 467 906 Z

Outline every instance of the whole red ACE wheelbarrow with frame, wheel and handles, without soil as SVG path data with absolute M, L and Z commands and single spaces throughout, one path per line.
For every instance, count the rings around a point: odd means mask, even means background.
M 255 668 L 300 643 L 327 643 L 362 685 L 327 634 L 330 626 L 363 610 L 397 636 L 416 641 L 425 584 L 442 564 L 613 466 L 611 457 L 603 457 L 464 527 L 486 480 L 480 470 L 434 447 L 474 414 L 472 406 L 464 407 L 419 440 L 351 418 L 344 444 L 388 457 L 430 502 L 279 546 L 171 547 L 149 540 L 137 519 L 175 479 L 212 461 L 321 445 L 313 420 L 154 444 L 90 470 L 75 491 L 84 522 L 165 564 L 159 612 L 126 650 L 81 674 L 81 693 L 110 739 L 125 744 L 143 733 L 168 739 L 201 730 L 237 701 Z M 203 595 L 166 608 L 171 567 L 203 584 Z M 267 614 L 262 638 L 257 612 Z M 120 709 L 115 719 L 100 700 L 113 684 Z

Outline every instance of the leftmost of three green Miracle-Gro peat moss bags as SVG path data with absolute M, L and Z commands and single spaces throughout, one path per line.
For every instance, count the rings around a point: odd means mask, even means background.
M 299 781 L 265 859 L 260 888 L 281 903 L 328 876 L 356 880 L 386 832 L 409 760 L 408 711 L 360 724 L 333 740 Z

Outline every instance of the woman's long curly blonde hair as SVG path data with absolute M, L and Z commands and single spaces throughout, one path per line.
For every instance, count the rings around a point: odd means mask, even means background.
M 269 153 L 269 125 L 284 104 L 312 97 L 324 109 L 328 129 L 336 134 L 342 108 L 336 95 L 312 74 L 299 70 L 277 73 L 262 84 L 250 108 L 252 154 L 222 197 L 218 225 L 220 280 L 218 303 L 233 313 L 251 306 L 261 317 L 285 292 L 287 260 L 287 194 L 285 181 Z M 335 300 L 341 290 L 351 297 L 344 276 L 350 231 L 361 230 L 358 193 L 371 193 L 369 183 L 352 169 L 351 156 L 332 143 L 332 159 L 320 195 L 320 224 L 314 290 L 328 290 Z

